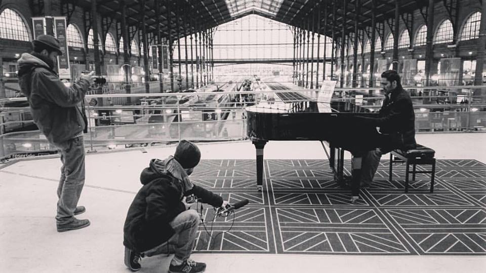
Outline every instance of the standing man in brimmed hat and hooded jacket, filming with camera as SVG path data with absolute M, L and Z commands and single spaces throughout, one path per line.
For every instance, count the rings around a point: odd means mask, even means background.
M 38 35 L 32 46 L 33 51 L 23 53 L 18 60 L 19 84 L 29 102 L 34 123 L 61 155 L 57 231 L 83 228 L 90 221 L 76 219 L 74 215 L 86 211 L 83 206 L 77 207 L 85 183 L 83 131 L 87 119 L 82 108 L 94 75 L 93 72 L 83 75 L 67 88 L 54 70 L 57 56 L 62 55 L 59 41 L 51 35 Z

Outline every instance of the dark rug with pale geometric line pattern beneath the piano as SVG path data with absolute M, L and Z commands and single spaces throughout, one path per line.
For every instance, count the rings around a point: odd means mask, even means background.
M 350 162 L 345 162 L 345 171 Z M 428 166 L 425 166 L 428 167 Z M 417 166 L 418 169 L 423 169 Z M 423 169 L 425 170 L 425 169 Z M 234 217 L 203 208 L 195 252 L 366 255 L 486 254 L 486 165 L 437 160 L 430 176 L 417 174 L 404 193 L 404 166 L 388 181 L 383 158 L 360 200 L 339 187 L 325 160 L 265 160 L 263 191 L 254 160 L 203 160 L 191 181 L 230 203 L 249 205 Z M 229 231 L 228 231 L 229 230 Z

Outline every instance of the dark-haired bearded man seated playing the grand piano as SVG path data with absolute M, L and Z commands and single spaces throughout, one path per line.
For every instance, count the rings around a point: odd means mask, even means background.
M 414 107 L 409 93 L 401 87 L 400 76 L 394 70 L 383 72 L 381 86 L 386 97 L 379 118 L 360 118 L 380 127 L 381 133 L 380 147 L 367 152 L 362 158 L 360 187 L 371 185 L 382 154 L 393 149 L 413 149 L 417 145 Z M 357 192 L 353 192 L 351 201 L 357 199 Z

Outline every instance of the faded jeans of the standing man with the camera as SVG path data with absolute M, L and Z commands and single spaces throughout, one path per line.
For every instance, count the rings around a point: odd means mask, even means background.
M 73 221 L 74 210 L 85 184 L 85 144 L 83 136 L 66 141 L 66 145 L 59 150 L 61 154 L 61 178 L 57 188 L 58 224 Z

